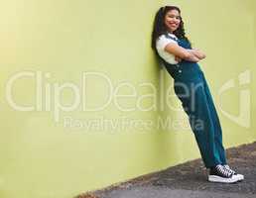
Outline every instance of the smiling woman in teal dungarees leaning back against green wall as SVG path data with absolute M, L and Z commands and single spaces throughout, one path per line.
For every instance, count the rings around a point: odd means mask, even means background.
M 152 33 L 152 48 L 174 78 L 175 93 L 189 116 L 202 161 L 209 170 L 208 181 L 234 183 L 243 180 L 244 176 L 237 174 L 226 162 L 219 119 L 197 64 L 205 54 L 192 49 L 180 8 L 165 6 L 159 9 Z M 202 123 L 202 127 L 196 127 L 196 122 Z

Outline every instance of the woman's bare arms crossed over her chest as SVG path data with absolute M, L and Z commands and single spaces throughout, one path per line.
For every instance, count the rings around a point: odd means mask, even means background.
M 178 44 L 174 43 L 167 45 L 165 50 L 176 55 L 176 59 L 178 61 L 181 61 L 181 59 L 186 59 L 197 62 L 206 57 L 206 55 L 199 49 L 184 49 Z

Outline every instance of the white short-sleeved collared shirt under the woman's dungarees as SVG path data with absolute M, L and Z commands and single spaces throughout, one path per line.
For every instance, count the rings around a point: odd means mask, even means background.
M 168 35 L 172 38 L 174 38 L 175 40 L 178 40 L 178 38 L 171 33 L 168 33 Z M 175 43 L 178 44 L 177 41 L 174 41 L 170 38 L 167 38 L 165 35 L 161 35 L 156 42 L 156 49 L 158 50 L 159 55 L 165 59 L 167 62 L 171 63 L 171 64 L 177 64 L 178 61 L 175 59 L 175 55 L 166 51 L 165 48 L 167 45 L 171 44 L 171 43 Z

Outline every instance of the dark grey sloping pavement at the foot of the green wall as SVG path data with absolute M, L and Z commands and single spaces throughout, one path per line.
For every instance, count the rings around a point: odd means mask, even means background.
M 229 165 L 245 180 L 211 183 L 201 159 L 81 194 L 79 198 L 256 198 L 256 142 L 226 151 Z

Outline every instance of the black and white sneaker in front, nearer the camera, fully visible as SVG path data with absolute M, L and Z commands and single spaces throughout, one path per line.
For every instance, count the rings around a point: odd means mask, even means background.
M 221 164 L 218 164 L 209 169 L 208 181 L 220 183 L 235 183 L 238 178 L 233 173 Z

